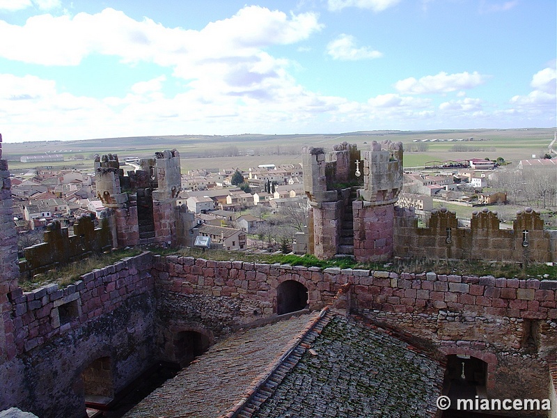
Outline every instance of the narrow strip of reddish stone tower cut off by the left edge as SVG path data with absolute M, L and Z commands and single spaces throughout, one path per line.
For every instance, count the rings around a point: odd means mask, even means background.
M 12 192 L 8 162 L 1 160 L 0 134 L 0 364 L 15 355 L 10 295 L 18 288 L 17 233 L 13 224 Z

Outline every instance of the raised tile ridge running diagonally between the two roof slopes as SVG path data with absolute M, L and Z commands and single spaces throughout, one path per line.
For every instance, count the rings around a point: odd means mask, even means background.
M 331 318 L 329 307 L 324 307 L 319 316 L 300 332 L 292 346 L 269 367 L 268 371 L 262 373 L 256 385 L 249 389 L 226 415 L 222 415 L 220 418 L 251 417 L 258 405 L 272 395 L 272 389 L 278 386 L 286 373 L 299 362 L 301 355 L 311 347 L 310 343 L 321 333 Z

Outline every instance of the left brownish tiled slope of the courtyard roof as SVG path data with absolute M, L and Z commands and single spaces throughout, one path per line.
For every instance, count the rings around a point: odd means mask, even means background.
M 126 418 L 211 418 L 226 415 L 272 372 L 318 313 L 237 332 L 212 346 Z

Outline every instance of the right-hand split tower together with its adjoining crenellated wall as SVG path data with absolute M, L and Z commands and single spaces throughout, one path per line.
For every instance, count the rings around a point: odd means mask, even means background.
M 531 208 L 500 229 L 495 211 L 474 211 L 469 229 L 454 212 L 433 210 L 418 228 L 412 208 L 395 203 L 402 189 L 402 143 L 373 142 L 360 151 L 343 143 L 329 153 L 304 148 L 304 188 L 310 201 L 307 251 L 319 258 L 354 255 L 358 261 L 393 257 L 457 258 L 540 263 L 557 261 L 557 233 L 544 231 Z M 299 238 L 298 238 L 299 239 Z

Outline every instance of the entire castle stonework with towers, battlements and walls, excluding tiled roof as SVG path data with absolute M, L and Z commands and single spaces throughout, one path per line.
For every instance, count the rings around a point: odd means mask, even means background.
M 95 165 L 97 192 L 107 207 L 100 227 L 80 219 L 81 230 L 68 236 L 50 226 L 52 239 L 43 248 L 57 246 L 57 254 L 79 258 L 79 251 L 107 246 L 187 242 L 187 211 L 173 206 L 178 153 L 157 153 L 141 173 L 128 176 L 134 185 L 122 184 L 127 180 L 115 157 L 99 157 Z M 411 210 L 395 207 L 401 170 L 400 144 L 372 144 L 363 157 L 347 144 L 337 146 L 332 157 L 305 149 L 312 207 L 308 250 L 324 258 L 352 253 L 371 261 L 408 255 L 466 258 L 471 246 L 491 251 L 485 254 L 494 259 L 556 261 L 554 238 L 542 230 L 533 210 L 521 212 L 508 232 L 496 229 L 493 212 L 478 212 L 471 229 L 461 230 L 446 210 L 418 229 Z M 0 160 L 0 179 L 0 410 L 17 406 L 41 418 L 81 418 L 88 396 L 114 398 L 156 362 L 185 364 L 238 328 L 331 306 L 427 347 L 446 366 L 448 380 L 460 376 L 462 364 L 478 396 L 549 399 L 554 412 L 535 414 L 556 413 L 555 281 L 304 268 L 144 252 L 64 288 L 51 284 L 23 292 L 6 160 Z M 125 193 L 127 187 L 136 190 L 133 198 Z M 85 245 L 85 238 L 100 243 Z M 68 246 L 74 252 L 61 248 Z M 49 258 L 46 263 L 57 262 Z M 436 390 L 441 394 L 441 388 Z M 238 408 L 231 404 L 226 416 L 251 416 Z M 440 416 L 435 408 L 427 414 Z

